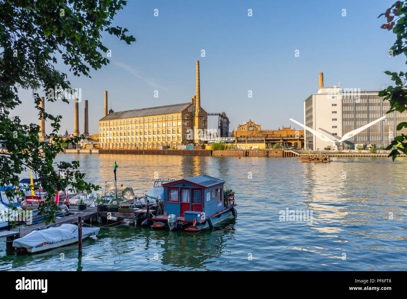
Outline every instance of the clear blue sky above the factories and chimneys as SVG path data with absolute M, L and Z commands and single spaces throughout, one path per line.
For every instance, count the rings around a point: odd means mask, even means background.
M 190 102 L 196 60 L 201 107 L 208 113 L 225 111 L 230 131 L 249 119 L 262 129 L 294 127 L 289 118 L 303 122 L 303 101 L 317 92 L 319 72 L 324 86 L 340 81 L 343 88 L 364 90 L 391 85 L 384 71 L 404 70 L 405 57 L 388 55 L 396 35 L 381 29 L 385 18 L 377 18 L 393 3 L 130 0 L 113 24 L 127 28 L 136 42 L 127 45 L 104 33 L 112 57 L 109 65 L 91 70 L 92 78 L 69 74 L 63 63 L 57 68 L 68 73 L 73 88 L 81 88 L 81 133 L 83 100 L 89 101 L 90 134 L 98 133 L 105 90 L 114 111 Z M 39 123 L 32 91 L 20 90 L 19 96 L 23 103 L 12 114 L 23 123 Z M 46 103 L 45 109 L 62 116 L 59 133 L 73 132 L 73 101 Z M 50 128 L 46 124 L 47 133 Z M 217 128 L 216 116 L 210 116 L 208 128 Z

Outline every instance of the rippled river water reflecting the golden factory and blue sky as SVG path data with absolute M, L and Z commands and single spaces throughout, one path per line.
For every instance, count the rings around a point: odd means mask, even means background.
M 88 181 L 142 194 L 154 172 L 180 179 L 208 174 L 236 192 L 237 219 L 198 233 L 122 225 L 77 244 L 34 255 L 0 247 L 0 270 L 406 270 L 407 160 L 333 157 L 59 155 L 78 159 Z M 249 179 L 249 177 L 252 177 Z M 279 211 L 312 211 L 312 222 L 280 221 Z M 62 259 L 64 258 L 64 259 Z

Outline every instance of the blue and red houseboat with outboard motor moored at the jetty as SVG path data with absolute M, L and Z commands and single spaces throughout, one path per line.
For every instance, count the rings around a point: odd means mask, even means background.
M 224 184 L 209 175 L 164 183 L 163 213 L 151 218 L 151 227 L 199 231 L 236 218 L 234 192 Z

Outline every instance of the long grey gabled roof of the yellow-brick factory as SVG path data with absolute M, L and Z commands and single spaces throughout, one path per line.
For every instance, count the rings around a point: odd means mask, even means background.
M 140 116 L 178 113 L 178 112 L 181 112 L 182 110 L 185 110 L 190 105 L 191 105 L 191 103 L 183 103 L 183 104 L 166 105 L 166 106 L 112 112 L 110 114 L 107 114 L 107 116 L 101 118 L 100 120 L 103 121 L 103 120 L 112 120 L 112 119 L 119 119 L 119 118 L 133 118 L 133 117 L 140 117 Z

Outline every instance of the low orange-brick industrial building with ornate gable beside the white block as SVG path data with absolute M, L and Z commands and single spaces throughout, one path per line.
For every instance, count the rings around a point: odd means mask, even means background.
M 248 120 L 237 126 L 233 131 L 236 145 L 263 143 L 265 148 L 273 147 L 276 143 L 285 147 L 295 149 L 304 148 L 304 130 L 296 130 L 295 127 L 278 128 L 278 130 L 262 130 L 261 125 L 252 120 Z

